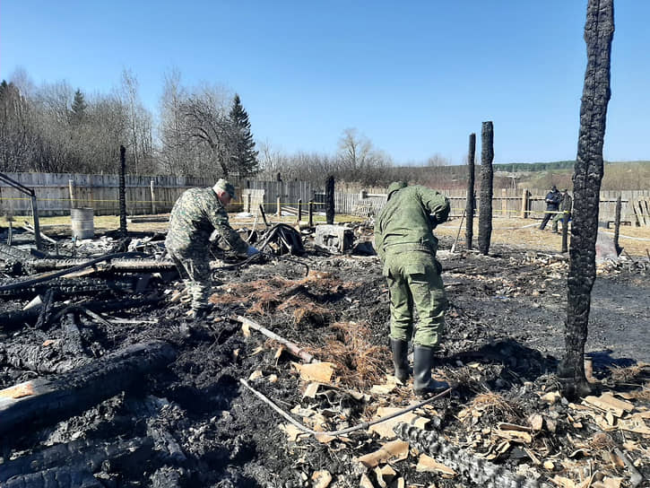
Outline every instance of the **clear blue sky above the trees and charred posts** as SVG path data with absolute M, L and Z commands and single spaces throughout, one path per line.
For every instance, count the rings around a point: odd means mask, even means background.
M 257 141 L 334 153 L 343 129 L 395 162 L 462 163 L 494 122 L 495 162 L 576 157 L 586 0 L 0 0 L 0 78 L 24 69 L 155 114 L 163 76 L 238 92 Z M 650 160 L 650 1 L 617 0 L 604 157 Z

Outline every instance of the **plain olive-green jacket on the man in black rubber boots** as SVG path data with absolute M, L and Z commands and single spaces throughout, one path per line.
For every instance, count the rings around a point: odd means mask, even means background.
M 424 250 L 434 256 L 438 240 L 433 229 L 449 216 L 446 196 L 427 187 L 404 187 L 391 194 L 375 221 L 375 247 L 382 261 L 386 252 Z

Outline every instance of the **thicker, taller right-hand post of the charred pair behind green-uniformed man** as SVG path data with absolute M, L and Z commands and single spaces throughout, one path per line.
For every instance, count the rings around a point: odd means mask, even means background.
M 481 130 L 481 206 L 479 212 L 479 250 L 484 256 L 490 251 L 492 237 L 492 160 L 494 160 L 494 128 L 483 122 Z

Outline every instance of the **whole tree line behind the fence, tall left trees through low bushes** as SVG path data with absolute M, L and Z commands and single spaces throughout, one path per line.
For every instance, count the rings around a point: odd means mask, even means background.
M 116 173 L 124 145 L 132 174 L 276 179 L 281 173 L 314 183 L 332 175 L 367 186 L 399 176 L 390 156 L 353 127 L 342 130 L 331 154 L 256 144 L 237 93 L 208 83 L 185 86 L 178 71 L 165 75 L 156 117 L 128 70 L 110 93 L 82 92 L 65 81 L 35 87 L 24 73 L 15 78 L 0 83 L 0 171 Z M 436 154 L 424 164 L 449 161 Z

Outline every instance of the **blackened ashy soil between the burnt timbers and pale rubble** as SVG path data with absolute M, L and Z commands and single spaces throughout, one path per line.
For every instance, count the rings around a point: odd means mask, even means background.
M 557 419 L 557 431 L 542 437 L 558 455 L 565 446 L 571 427 L 562 419 L 567 405 L 542 404 L 538 393 L 556 384 L 555 368 L 563 348 L 563 323 L 567 300 L 567 262 L 560 256 L 538 256 L 534 252 L 493 247 L 490 257 L 474 253 L 446 252 L 451 240 L 441 240 L 440 260 L 450 301 L 447 332 L 438 372 L 455 385 L 452 396 L 438 401 L 439 429 L 449 440 L 464 442 L 466 425 L 458 414 L 480 393 L 494 392 L 512 405 L 512 419 L 498 414 L 484 415 L 486 427 L 501 421 L 524 422 L 529 414 L 542 413 Z M 386 395 L 370 395 L 355 400 L 344 389 L 309 398 L 302 395 L 304 382 L 292 367 L 292 359 L 256 332 L 246 337 L 241 324 L 230 320 L 247 316 L 290 341 L 319 351 L 326 339 L 335 336 L 337 322 L 356 322 L 368 327 L 368 342 L 386 347 L 388 296 L 377 257 L 333 257 L 308 252 L 305 257 L 278 258 L 224 271 L 218 296 L 232 295 L 239 283 L 283 278 L 299 282 L 305 265 L 323 278 L 307 286 L 312 304 L 319 313 L 297 319 L 290 309 L 274 305 L 264 314 L 248 310 L 255 304 L 247 297 L 220 301 L 208 318 L 186 318 L 186 305 L 169 300 L 155 308 L 123 310 L 107 318 L 109 326 L 82 318 L 83 350 L 89 357 L 115 351 L 127 344 L 161 339 L 178 350 L 175 362 L 161 374 L 143 379 L 135 391 L 114 396 L 82 414 L 40 430 L 21 426 L 0 438 L 4 462 L 30 457 L 48 446 L 74 440 L 118 442 L 152 438 L 149 455 L 117 463 L 103 463 L 92 470 L 103 486 L 308 486 L 311 475 L 329 471 L 332 486 L 358 486 L 366 472 L 354 457 L 376 450 L 382 441 L 367 431 L 357 431 L 347 440 L 322 443 L 313 438 L 288 440 L 279 428 L 286 423 L 262 403 L 239 379 L 249 379 L 259 370 L 262 379 L 250 384 L 289 412 L 294 406 L 319 412 L 344 412 L 347 423 L 366 421 L 377 406 L 408 405 L 410 388 L 398 388 Z M 650 278 L 645 268 L 611 266 L 599 274 L 594 286 L 590 337 L 586 350 L 594 354 L 595 372 L 606 377 L 611 365 L 650 361 L 647 338 Z M 325 277 L 326 276 L 326 277 Z M 155 282 L 156 292 L 165 293 L 178 283 Z M 148 292 L 152 292 L 149 290 Z M 252 293 L 252 292 L 251 292 Z M 93 296 L 115 300 L 116 291 Z M 169 299 L 171 293 L 165 294 Z M 131 297 L 128 297 L 131 298 Z M 27 302 L 4 301 L 3 309 L 18 309 Z M 326 312 L 323 311 L 326 310 Z M 43 344 L 44 340 L 65 337 L 65 327 L 56 324 L 45 331 L 25 327 L 5 334 L 3 347 L 15 344 Z M 65 349 L 58 350 L 61 360 Z M 392 372 L 387 349 L 384 373 Z M 17 369 L 0 355 L 0 387 L 34 379 L 30 370 Z M 295 360 L 294 360 L 295 361 Z M 471 365 L 471 366 L 470 366 Z M 267 379 L 277 376 L 277 381 Z M 369 395 L 369 386 L 362 392 Z M 296 415 L 294 415 L 296 416 Z M 297 416 L 299 419 L 299 416 Z M 589 435 L 586 432 L 583 435 Z M 622 442 L 619 433 L 611 434 Z M 633 437 L 633 434 L 630 434 Z M 521 450 L 513 449 L 495 462 L 516 471 L 523 463 Z M 566 452 L 564 454 L 566 456 Z M 61 464 L 65 464 L 65 459 Z M 430 473 L 418 473 L 412 458 L 394 463 L 408 484 L 442 487 L 473 486 L 467 479 L 446 480 Z M 647 464 L 639 469 L 650 476 Z M 2 465 L 0 464 L 0 473 Z M 370 474 L 372 477 L 372 474 Z M 3 484 L 0 483 L 0 486 Z

